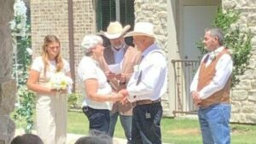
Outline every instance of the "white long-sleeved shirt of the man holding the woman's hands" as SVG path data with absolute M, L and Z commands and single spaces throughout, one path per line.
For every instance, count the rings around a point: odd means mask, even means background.
M 128 101 L 155 101 L 166 93 L 167 66 L 165 55 L 154 43 L 143 51 L 143 60 L 134 66 L 127 84 Z M 140 76 L 141 75 L 141 76 Z

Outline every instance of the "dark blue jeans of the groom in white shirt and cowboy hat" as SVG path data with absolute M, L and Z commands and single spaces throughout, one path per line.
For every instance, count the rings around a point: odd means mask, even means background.
M 160 102 L 134 107 L 131 143 L 161 144 L 160 120 L 162 114 L 163 109 Z

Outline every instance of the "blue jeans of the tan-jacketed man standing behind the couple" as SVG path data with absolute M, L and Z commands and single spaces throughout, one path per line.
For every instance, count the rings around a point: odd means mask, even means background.
M 131 144 L 131 121 L 132 121 L 132 116 L 123 116 L 120 115 L 119 112 L 110 112 L 110 125 L 109 125 L 109 130 L 108 134 L 113 137 L 113 131 L 115 128 L 115 124 L 117 122 L 118 116 L 120 118 L 120 122 L 122 124 L 123 129 L 125 130 L 125 136 L 127 139 L 127 143 Z

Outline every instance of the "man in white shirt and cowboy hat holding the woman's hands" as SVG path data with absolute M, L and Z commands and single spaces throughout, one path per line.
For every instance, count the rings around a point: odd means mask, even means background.
M 166 93 L 167 64 L 160 48 L 154 43 L 154 26 L 149 22 L 137 22 L 133 43 L 142 52 L 142 59 L 132 74 L 127 89 L 119 91 L 134 104 L 131 128 L 132 144 L 160 144 L 161 95 Z M 124 100 L 125 101 L 125 100 Z

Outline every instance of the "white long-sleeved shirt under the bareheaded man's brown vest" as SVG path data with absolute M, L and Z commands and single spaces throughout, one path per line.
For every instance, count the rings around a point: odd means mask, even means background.
M 220 53 L 223 49 L 224 47 L 222 46 L 222 47 L 219 47 L 218 49 L 215 49 L 212 52 L 209 52 L 207 55 L 210 55 L 210 56 L 206 61 L 207 62 L 206 66 L 209 66 L 212 60 L 216 58 L 216 55 L 218 55 L 218 53 Z M 203 60 L 205 60 L 207 55 L 205 55 L 202 58 L 201 63 L 203 62 Z M 190 92 L 197 91 L 200 68 L 201 66 L 198 68 L 197 72 L 195 73 L 195 77 L 193 78 L 193 81 L 190 85 Z M 232 68 L 233 68 L 233 61 L 231 56 L 227 54 L 222 55 L 219 58 L 218 63 L 215 67 L 216 73 L 215 73 L 215 76 L 212 78 L 212 81 L 209 84 L 207 84 L 203 89 L 198 91 L 202 100 L 207 99 L 207 97 L 211 96 L 218 90 L 224 88 L 226 82 L 230 78 L 230 74 L 232 73 Z

